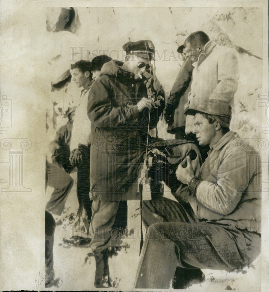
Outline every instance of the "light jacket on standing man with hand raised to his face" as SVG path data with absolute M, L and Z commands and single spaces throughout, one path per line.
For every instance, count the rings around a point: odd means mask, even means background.
M 205 44 L 204 53 L 193 63 L 191 92 L 184 111 L 188 108 L 195 109 L 209 99 L 223 100 L 233 107 L 239 79 L 235 53 L 234 49 L 218 46 L 213 40 Z M 193 116 L 187 115 L 186 134 L 191 133 L 192 128 Z

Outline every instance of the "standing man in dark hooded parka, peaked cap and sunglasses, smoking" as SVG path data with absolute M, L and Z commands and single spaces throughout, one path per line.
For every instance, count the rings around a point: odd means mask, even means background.
M 149 123 L 149 111 L 156 107 L 147 98 L 143 74 L 155 49 L 148 40 L 128 42 L 123 46 L 123 64 L 107 62 L 94 82 L 88 100 L 88 117 L 92 122 L 91 248 L 94 251 L 95 287 L 111 286 L 108 267 L 110 230 L 120 201 L 139 199 L 137 185 L 145 149 L 141 135 Z M 152 125 L 152 126 L 156 126 Z

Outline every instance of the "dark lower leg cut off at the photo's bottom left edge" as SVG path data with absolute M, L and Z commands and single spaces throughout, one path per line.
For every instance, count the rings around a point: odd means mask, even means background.
M 53 239 L 55 231 L 55 220 L 53 216 L 45 211 L 45 286 L 54 278 L 53 270 Z

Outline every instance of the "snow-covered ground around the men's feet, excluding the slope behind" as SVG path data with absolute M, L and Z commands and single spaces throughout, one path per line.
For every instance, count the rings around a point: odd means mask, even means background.
M 75 184 L 67 199 L 66 208 L 58 222 L 54 235 L 54 270 L 55 279 L 60 279 L 59 287 L 50 287 L 50 290 L 94 290 L 95 259 L 89 244 L 76 245 L 71 239 L 74 234 L 74 225 L 69 224 L 72 213 L 76 214 L 78 202 L 76 199 L 76 173 L 72 174 Z M 47 193 L 52 191 L 48 187 Z M 165 196 L 173 199 L 169 192 Z M 123 238 L 120 247 L 110 251 L 109 268 L 113 288 L 117 291 L 131 291 L 134 289 L 137 266 L 139 262 L 139 201 L 128 201 L 128 238 Z M 70 242 L 73 242 L 71 244 Z M 117 241 L 118 243 L 119 241 Z M 158 256 L 158 255 L 156 255 Z M 242 271 L 202 270 L 205 281 L 190 283 L 185 291 L 260 291 L 261 258 L 258 258 L 251 267 Z

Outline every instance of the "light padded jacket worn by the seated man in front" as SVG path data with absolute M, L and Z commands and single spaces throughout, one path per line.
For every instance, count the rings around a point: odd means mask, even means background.
M 259 154 L 241 142 L 230 131 L 212 146 L 198 175 L 202 182 L 189 203 L 198 219 L 235 220 L 241 229 L 260 232 Z

